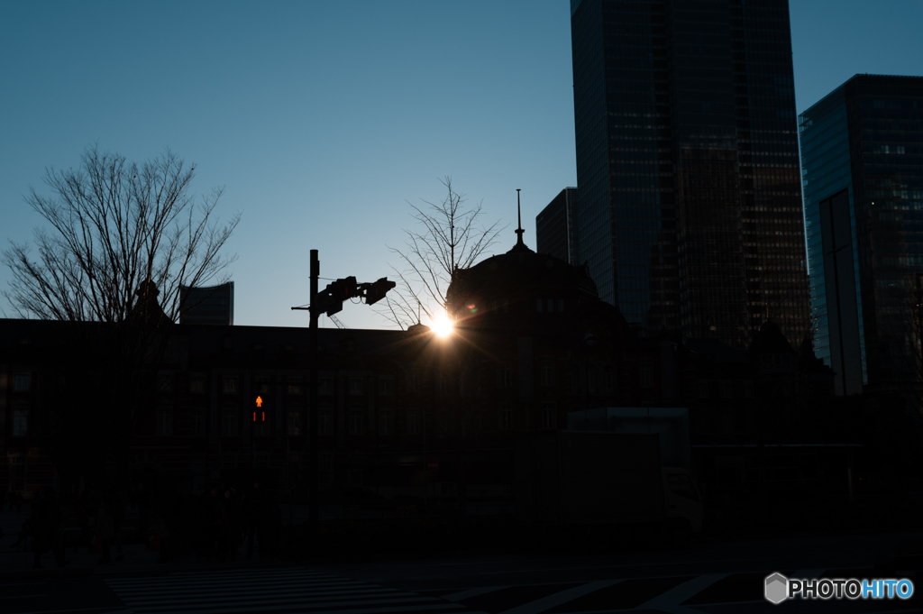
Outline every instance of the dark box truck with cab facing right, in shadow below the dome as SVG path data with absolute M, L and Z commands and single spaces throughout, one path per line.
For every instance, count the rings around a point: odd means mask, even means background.
M 659 439 L 570 430 L 517 439 L 519 520 L 576 535 L 685 545 L 701 532 L 701 496 L 686 469 L 661 466 Z

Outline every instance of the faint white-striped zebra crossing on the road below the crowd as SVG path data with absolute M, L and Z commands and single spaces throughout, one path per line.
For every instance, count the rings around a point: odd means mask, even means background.
M 308 569 L 177 572 L 149 578 L 110 578 L 106 584 L 134 614 L 454 614 L 470 611 L 438 597 Z

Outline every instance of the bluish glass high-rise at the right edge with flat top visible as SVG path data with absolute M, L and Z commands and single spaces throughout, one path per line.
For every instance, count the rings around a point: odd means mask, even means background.
M 923 77 L 857 75 L 798 130 L 817 355 L 838 394 L 919 379 Z

